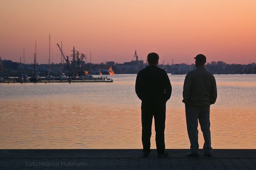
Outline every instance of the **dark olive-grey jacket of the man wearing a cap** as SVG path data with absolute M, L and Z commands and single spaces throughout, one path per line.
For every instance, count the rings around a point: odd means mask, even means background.
M 198 66 L 186 75 L 183 86 L 183 100 L 186 107 L 210 107 L 217 99 L 216 80 L 204 66 Z

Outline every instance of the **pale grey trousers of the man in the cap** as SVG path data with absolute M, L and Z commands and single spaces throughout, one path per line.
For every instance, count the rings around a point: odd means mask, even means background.
M 204 136 L 204 152 L 212 153 L 211 132 L 210 132 L 210 107 L 196 108 L 188 106 L 186 108 L 186 121 L 188 137 L 190 141 L 190 149 L 194 154 L 199 154 L 198 144 L 198 120 Z

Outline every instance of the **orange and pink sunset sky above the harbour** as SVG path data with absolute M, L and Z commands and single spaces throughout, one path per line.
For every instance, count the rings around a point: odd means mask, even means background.
M 255 0 L 0 0 L 0 55 L 32 63 L 60 63 L 57 43 L 92 63 L 131 61 L 137 50 L 159 63 L 256 62 Z

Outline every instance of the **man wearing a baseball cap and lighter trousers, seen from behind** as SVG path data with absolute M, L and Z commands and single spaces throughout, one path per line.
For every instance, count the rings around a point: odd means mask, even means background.
M 196 69 L 189 71 L 183 86 L 183 100 L 191 152 L 189 157 L 199 157 L 198 121 L 204 136 L 204 156 L 212 156 L 210 132 L 210 105 L 217 99 L 216 81 L 211 72 L 204 67 L 206 57 L 198 54 Z

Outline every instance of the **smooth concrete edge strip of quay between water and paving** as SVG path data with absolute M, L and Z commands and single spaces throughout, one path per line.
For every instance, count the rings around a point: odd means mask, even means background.
M 168 158 L 191 158 L 186 154 L 189 149 L 165 149 L 169 152 Z M 256 149 L 213 149 L 212 157 L 203 156 L 200 149 L 200 158 L 243 159 L 256 158 Z M 156 158 L 156 149 L 151 149 L 149 158 Z M 144 158 L 142 149 L 1 149 L 0 159 L 27 159 L 27 158 Z M 147 159 L 147 158 L 145 158 Z M 193 158 L 195 159 L 195 158 Z

